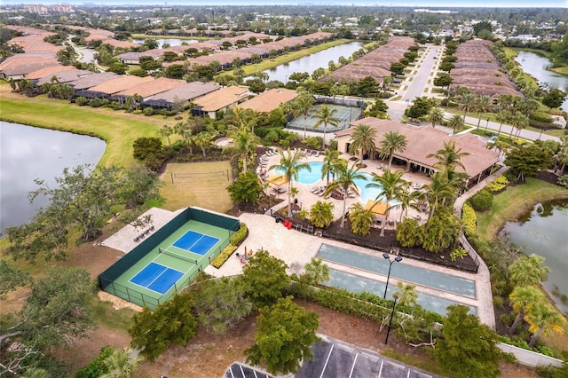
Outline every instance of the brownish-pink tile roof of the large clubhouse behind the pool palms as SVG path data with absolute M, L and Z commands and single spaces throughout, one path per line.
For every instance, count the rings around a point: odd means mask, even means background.
M 380 141 L 387 132 L 396 131 L 405 135 L 407 141 L 406 150 L 402 153 L 395 153 L 394 156 L 418 163 L 430 169 L 434 169 L 434 164 L 436 164 L 437 160 L 433 157 L 427 157 L 427 155 L 434 154 L 439 149 L 442 149 L 444 142 L 449 140 L 454 140 L 455 146 L 461 148 L 461 152 L 469 153 L 468 156 L 461 158 L 461 163 L 465 166 L 465 172 L 469 177 L 475 177 L 499 161 L 499 154 L 485 148 L 485 143 L 477 139 L 473 134 L 448 136 L 446 132 L 428 126 L 416 128 L 390 120 L 379 120 L 374 117 L 351 122 L 353 127 L 337 131 L 335 136 L 338 138 L 351 136 L 354 126 L 359 124 L 367 124 L 377 130 L 375 146 L 380 146 Z M 458 168 L 457 170 L 461 169 Z

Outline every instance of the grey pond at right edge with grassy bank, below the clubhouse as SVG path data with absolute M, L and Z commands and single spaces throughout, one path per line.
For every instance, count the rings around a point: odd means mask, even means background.
M 550 268 L 548 280 L 543 283 L 548 293 L 555 287 L 568 295 L 568 201 L 539 203 L 517 222 L 505 224 L 503 232 L 509 240 L 523 248 L 527 255 L 536 254 L 546 258 Z M 568 311 L 557 296 L 551 295 L 562 311 Z

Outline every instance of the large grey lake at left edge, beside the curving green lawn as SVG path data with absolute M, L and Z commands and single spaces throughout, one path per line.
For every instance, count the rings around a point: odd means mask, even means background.
M 70 132 L 39 129 L 0 121 L 0 234 L 6 227 L 26 224 L 37 209 L 48 204 L 28 193 L 36 190 L 36 178 L 53 186 L 64 168 L 97 164 L 106 143 L 99 138 Z

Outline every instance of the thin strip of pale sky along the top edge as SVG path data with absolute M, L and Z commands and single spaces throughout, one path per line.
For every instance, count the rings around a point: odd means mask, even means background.
M 108 4 L 124 5 L 120 0 L 3 0 L 1 4 Z M 409 6 L 414 8 L 429 7 L 502 7 L 502 8 L 568 8 L 568 0 L 130 0 L 128 5 L 367 5 L 367 6 Z

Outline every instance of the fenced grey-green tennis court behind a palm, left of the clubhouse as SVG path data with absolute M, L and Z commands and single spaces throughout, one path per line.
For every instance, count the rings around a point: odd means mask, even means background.
M 313 126 L 319 121 L 317 116 L 317 112 L 320 106 L 323 104 L 318 104 L 312 107 L 307 114 L 307 118 L 304 120 L 304 114 L 298 115 L 294 120 L 288 122 L 287 127 L 289 129 L 296 129 L 296 130 L 304 130 L 309 131 L 316 131 L 316 132 L 323 132 L 324 125 L 320 124 L 317 129 L 313 129 Z M 332 111 L 335 110 L 333 117 L 337 118 L 339 122 L 337 126 L 333 126 L 327 123 L 326 132 L 334 132 L 338 130 L 344 130 L 349 127 L 349 123 L 359 118 L 362 110 L 358 106 L 343 106 L 343 105 L 336 105 L 336 104 L 325 104 L 329 109 Z

